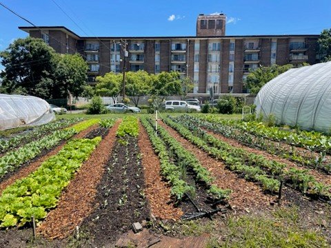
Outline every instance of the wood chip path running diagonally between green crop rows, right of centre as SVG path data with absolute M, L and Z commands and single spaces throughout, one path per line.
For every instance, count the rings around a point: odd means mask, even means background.
M 229 204 L 235 211 L 251 211 L 255 209 L 265 209 L 270 207 L 270 203 L 274 202 L 276 196 L 263 194 L 263 190 L 259 185 L 249 182 L 244 178 L 239 178 L 233 172 L 225 169 L 225 165 L 208 155 L 202 149 L 199 149 L 190 141 L 183 138 L 177 131 L 173 130 L 162 121 L 159 124 L 165 128 L 174 138 L 177 139 L 185 149 L 192 152 L 203 167 L 214 177 L 214 184 L 221 189 L 231 189 Z

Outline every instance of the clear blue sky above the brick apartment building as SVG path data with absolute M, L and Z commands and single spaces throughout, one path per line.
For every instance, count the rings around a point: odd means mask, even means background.
M 65 25 L 81 36 L 193 36 L 199 13 L 223 12 L 226 34 L 319 34 L 331 28 L 331 0 L 0 0 L 35 25 Z M 57 3 L 78 24 L 63 14 Z M 0 50 L 29 25 L 0 6 Z

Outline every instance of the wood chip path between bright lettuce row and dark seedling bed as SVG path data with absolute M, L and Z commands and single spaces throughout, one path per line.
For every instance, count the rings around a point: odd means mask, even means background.
M 66 238 L 92 212 L 97 185 L 111 156 L 120 122 L 119 120 L 114 124 L 62 192 L 57 208 L 50 211 L 37 228 L 39 234 L 51 239 Z

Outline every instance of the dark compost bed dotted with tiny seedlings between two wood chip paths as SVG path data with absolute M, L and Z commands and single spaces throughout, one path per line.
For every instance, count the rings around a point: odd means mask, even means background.
M 132 223 L 150 216 L 137 138 L 125 139 L 127 144 L 123 138 L 117 139 L 97 187 L 97 205 L 81 225 L 86 235 L 81 240 L 82 247 L 112 247 L 121 234 L 132 228 Z

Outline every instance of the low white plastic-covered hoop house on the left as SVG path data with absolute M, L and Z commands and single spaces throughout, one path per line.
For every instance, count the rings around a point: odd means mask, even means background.
M 34 96 L 0 94 L 0 130 L 43 125 L 55 119 L 50 105 Z

